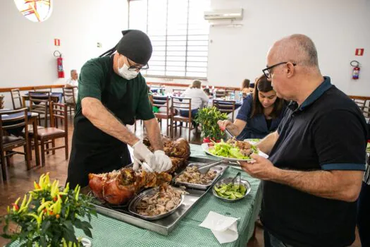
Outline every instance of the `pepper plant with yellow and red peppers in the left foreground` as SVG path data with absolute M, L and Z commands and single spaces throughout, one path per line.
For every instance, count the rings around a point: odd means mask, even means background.
M 18 198 L 5 221 L 2 237 L 19 241 L 20 246 L 82 246 L 81 238 L 75 236 L 75 229 L 82 229 L 92 237 L 90 224 L 92 215 L 97 216 L 92 206 L 91 196 L 80 194 L 80 186 L 74 190 L 58 186 L 58 180 L 50 183 L 49 174 L 42 174 L 35 189 Z M 84 220 L 84 218 L 88 219 Z M 17 225 L 10 232 L 9 224 Z

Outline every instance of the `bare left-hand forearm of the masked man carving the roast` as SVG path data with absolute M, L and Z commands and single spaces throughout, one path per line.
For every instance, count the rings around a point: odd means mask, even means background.
M 116 119 L 99 100 L 93 99 L 86 101 L 83 99 L 83 101 L 82 114 L 84 114 L 95 127 L 130 146 L 140 140 L 131 133 L 121 121 Z

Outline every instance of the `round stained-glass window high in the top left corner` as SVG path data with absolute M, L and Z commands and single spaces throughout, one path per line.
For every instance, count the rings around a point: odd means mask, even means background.
M 14 0 L 18 11 L 28 20 L 42 22 L 51 15 L 51 0 Z

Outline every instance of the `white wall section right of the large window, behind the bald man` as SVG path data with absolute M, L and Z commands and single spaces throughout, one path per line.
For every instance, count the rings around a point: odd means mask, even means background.
M 241 28 L 211 27 L 209 84 L 239 86 L 266 67 L 274 41 L 293 33 L 308 35 L 319 64 L 332 83 L 352 95 L 370 96 L 370 0 L 212 0 L 213 9 L 244 8 Z M 364 48 L 364 56 L 354 56 Z M 350 61 L 362 64 L 352 80 Z

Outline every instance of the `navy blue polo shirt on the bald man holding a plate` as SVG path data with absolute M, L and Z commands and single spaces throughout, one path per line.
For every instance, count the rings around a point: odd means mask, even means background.
M 328 77 L 301 106 L 289 104 L 278 133 L 269 159 L 280 169 L 365 169 L 364 116 Z M 264 181 L 261 220 L 271 234 L 292 246 L 350 246 L 356 203 Z

